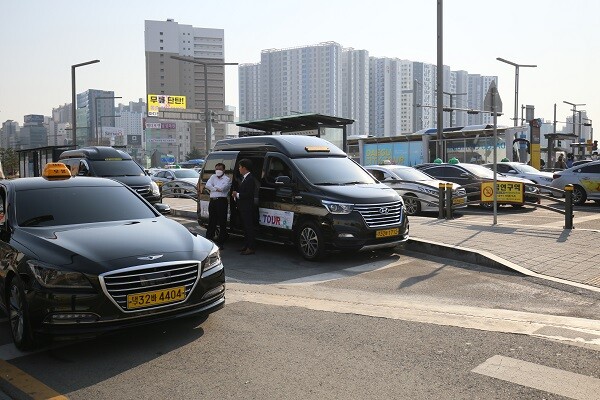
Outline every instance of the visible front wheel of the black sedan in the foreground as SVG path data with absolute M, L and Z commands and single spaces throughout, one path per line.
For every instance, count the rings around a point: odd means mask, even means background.
M 14 276 L 8 287 L 8 320 L 10 333 L 15 346 L 19 350 L 30 350 L 36 342 L 29 321 L 29 306 L 25 298 L 23 281 L 18 275 Z

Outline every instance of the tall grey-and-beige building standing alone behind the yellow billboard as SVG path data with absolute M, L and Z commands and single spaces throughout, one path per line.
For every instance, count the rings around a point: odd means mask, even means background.
M 197 28 L 172 19 L 145 21 L 146 92 L 148 95 L 185 96 L 186 107 L 204 112 L 205 97 L 211 112 L 222 113 L 225 108 L 225 67 L 206 67 L 172 59 L 171 56 L 194 58 L 206 63 L 223 63 L 225 59 L 225 35 L 223 29 Z M 205 87 L 205 77 L 207 85 Z M 203 117 L 204 118 L 204 117 Z M 167 122 L 160 121 L 160 122 Z M 169 120 L 169 122 L 174 122 Z M 177 122 L 179 124 L 181 120 Z M 190 143 L 177 143 L 178 148 L 197 148 L 206 151 L 206 123 L 202 120 L 188 121 Z M 216 140 L 225 137 L 222 124 L 213 125 Z M 146 151 L 162 152 L 160 142 L 148 142 L 148 138 L 160 139 L 158 129 L 146 128 Z M 176 135 L 177 140 L 179 136 Z M 181 151 L 180 153 L 183 153 Z M 180 160 L 178 160 L 180 161 Z

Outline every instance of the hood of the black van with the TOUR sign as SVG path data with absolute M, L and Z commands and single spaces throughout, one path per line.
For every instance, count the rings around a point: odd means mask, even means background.
M 331 200 L 351 203 L 389 203 L 400 200 L 395 190 L 382 183 L 343 186 L 317 185 Z

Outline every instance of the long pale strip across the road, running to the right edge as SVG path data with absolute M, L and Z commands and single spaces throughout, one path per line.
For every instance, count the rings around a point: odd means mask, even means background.
M 597 320 L 530 312 L 500 310 L 437 301 L 410 299 L 394 294 L 323 288 L 316 285 L 251 285 L 231 283 L 227 302 L 239 301 L 344 314 L 423 322 L 482 331 L 516 333 L 585 345 L 600 351 Z

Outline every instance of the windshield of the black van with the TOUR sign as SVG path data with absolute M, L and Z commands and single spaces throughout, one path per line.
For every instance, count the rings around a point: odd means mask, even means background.
M 346 157 L 297 158 L 293 162 L 315 185 L 377 183 L 368 172 Z

